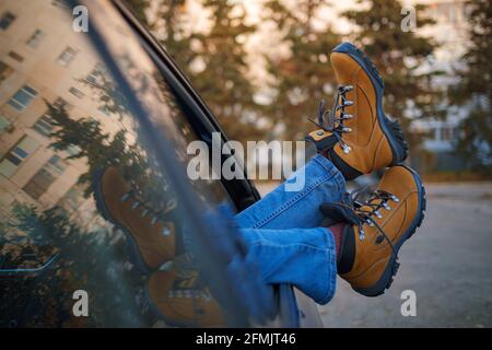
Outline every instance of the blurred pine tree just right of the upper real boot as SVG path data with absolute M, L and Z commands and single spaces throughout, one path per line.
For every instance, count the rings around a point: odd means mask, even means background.
M 419 72 L 437 45 L 414 31 L 402 30 L 405 14 L 399 1 L 359 0 L 358 3 L 364 10 L 343 13 L 356 25 L 351 39 L 374 61 L 383 75 L 385 113 L 400 121 L 410 142 L 410 154 L 417 154 L 419 136 L 409 130 L 412 118 L 443 117 L 438 106 L 444 91 L 433 83 L 433 78 L 441 72 Z M 425 16 L 423 7 L 417 5 L 414 10 L 417 28 L 434 23 Z

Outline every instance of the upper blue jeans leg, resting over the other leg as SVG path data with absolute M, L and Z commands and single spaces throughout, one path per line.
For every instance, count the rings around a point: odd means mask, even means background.
M 303 174 L 303 175 L 298 175 Z M 313 229 L 323 221 L 319 206 L 339 202 L 345 190 L 345 179 L 325 156 L 317 154 L 293 176 L 305 176 L 298 191 L 285 190 L 285 183 L 235 217 L 243 229 Z

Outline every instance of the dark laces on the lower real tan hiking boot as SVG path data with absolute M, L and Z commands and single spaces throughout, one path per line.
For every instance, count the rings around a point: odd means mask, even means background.
M 360 219 L 359 240 L 362 241 L 365 237 L 363 229 L 365 224 L 368 224 L 370 226 L 375 226 L 377 231 L 379 231 L 379 233 L 383 235 L 383 237 L 388 242 L 393 253 L 398 259 L 398 253 L 395 248 L 395 245 L 393 244 L 388 235 L 384 232 L 384 230 L 380 228 L 380 225 L 376 222 L 376 220 L 374 220 L 374 217 L 382 219 L 383 214 L 380 211 L 383 209 L 386 211 L 391 210 L 391 207 L 389 207 L 389 201 L 399 202 L 399 198 L 386 190 L 378 189 L 372 192 L 367 200 L 361 202 L 358 200 L 358 197 L 360 197 L 361 192 L 362 192 L 361 190 L 358 190 L 355 192 L 355 196 L 352 197 L 353 210 Z

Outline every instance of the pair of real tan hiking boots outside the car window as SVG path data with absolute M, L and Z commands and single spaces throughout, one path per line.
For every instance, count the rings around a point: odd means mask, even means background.
M 398 250 L 422 223 L 425 190 L 406 165 L 407 142 L 397 121 L 383 112 L 384 82 L 376 67 L 350 43 L 330 56 L 338 93 L 331 110 L 324 103 L 307 140 L 328 158 L 345 179 L 386 170 L 376 190 L 363 201 L 326 203 L 326 226 L 348 223 L 341 242 L 338 273 L 361 294 L 376 296 L 396 275 Z

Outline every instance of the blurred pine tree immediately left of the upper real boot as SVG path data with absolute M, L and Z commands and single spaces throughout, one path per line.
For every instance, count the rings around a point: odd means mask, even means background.
M 332 92 L 335 72 L 329 52 L 339 44 L 339 36 L 328 23 L 323 28 L 314 25 L 321 20 L 316 14 L 325 5 L 325 0 L 297 1 L 295 9 L 277 0 L 266 3 L 266 20 L 277 24 L 283 33 L 282 43 L 291 51 L 289 57 L 267 57 L 277 91 L 268 112 L 269 138 L 302 139 L 313 129 L 307 117 L 315 115 L 318 102 Z

